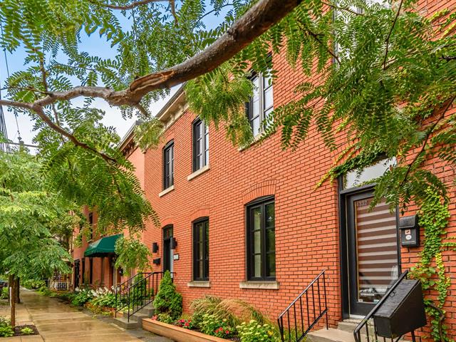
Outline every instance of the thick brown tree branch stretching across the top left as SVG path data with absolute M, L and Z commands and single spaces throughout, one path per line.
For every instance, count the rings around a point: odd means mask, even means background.
M 94 0 L 93 0 L 94 1 Z M 135 1 L 134 6 L 159 0 Z M 108 162 L 117 162 L 112 157 L 98 152 L 84 142 L 80 142 L 71 133 L 68 133 L 61 126 L 56 125 L 44 113 L 48 105 L 58 101 L 73 100 L 74 98 L 103 98 L 110 105 L 129 105 L 138 108 L 142 98 L 153 90 L 171 88 L 178 84 L 190 81 L 193 78 L 202 76 L 214 70 L 222 63 L 228 61 L 239 51 L 252 43 L 255 38 L 261 36 L 271 26 L 277 24 L 301 3 L 302 0 L 259 0 L 252 6 L 231 28 L 227 30 L 217 41 L 201 53 L 189 58 L 187 61 L 167 68 L 157 73 L 136 78 L 130 86 L 124 90 L 115 91 L 110 88 L 96 86 L 77 86 L 71 90 L 49 92 L 43 98 L 33 103 L 21 103 L 14 100 L 0 100 L 0 104 L 25 110 L 33 110 L 41 120 L 50 128 L 71 140 L 75 145 L 91 150 L 103 157 Z M 97 2 L 97 4 L 99 4 Z M 139 109 L 139 108 L 138 108 Z

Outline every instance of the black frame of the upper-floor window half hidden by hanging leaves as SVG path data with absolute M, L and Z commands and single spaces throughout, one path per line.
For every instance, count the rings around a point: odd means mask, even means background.
M 247 119 L 249 120 L 250 129 L 254 136 L 259 135 L 264 132 L 264 120 L 266 120 L 266 112 L 270 111 L 269 113 L 274 110 L 274 87 L 272 84 L 272 78 L 264 77 L 264 73 L 257 73 L 255 71 L 251 72 L 249 80 L 254 82 L 255 78 L 259 78 L 259 88 L 258 88 L 258 101 L 259 101 L 259 113 L 256 116 L 253 116 L 254 113 L 254 98 L 251 97 L 249 102 L 246 103 L 246 112 L 247 112 Z M 269 80 L 271 81 L 269 83 Z M 267 82 L 267 85 L 266 85 Z M 272 103 L 268 108 L 265 108 L 265 93 L 267 90 L 271 89 L 272 91 Z M 259 117 L 259 128 L 258 133 L 254 132 L 254 119 Z

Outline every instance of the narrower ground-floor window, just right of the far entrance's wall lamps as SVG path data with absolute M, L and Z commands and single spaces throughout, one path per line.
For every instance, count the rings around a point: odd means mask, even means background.
M 193 222 L 193 279 L 209 280 L 209 219 Z

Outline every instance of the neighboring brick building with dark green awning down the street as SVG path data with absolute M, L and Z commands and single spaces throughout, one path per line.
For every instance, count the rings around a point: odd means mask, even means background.
M 124 155 L 135 167 L 135 175 L 140 181 L 140 185 L 144 187 L 144 153 L 133 142 L 133 129 L 135 125 L 128 131 L 125 138 L 120 142 L 119 148 Z M 86 207 L 83 209 L 83 214 L 88 219 L 89 224 L 96 225 L 98 216 L 96 212 L 90 212 Z M 94 231 L 96 229 L 93 229 Z M 73 237 L 79 231 L 73 232 Z M 123 273 L 121 269 L 115 268 L 115 253 L 114 247 L 118 237 L 122 234 L 114 236 L 98 237 L 92 235 L 90 239 L 83 237 L 81 247 L 71 249 L 71 255 L 74 259 L 73 264 L 73 289 L 78 286 L 88 285 L 93 287 L 106 286 L 110 288 L 115 284 L 119 284 Z

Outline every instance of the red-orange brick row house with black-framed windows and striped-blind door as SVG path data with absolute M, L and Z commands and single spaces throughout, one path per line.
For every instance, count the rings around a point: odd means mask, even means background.
M 444 2 L 420 1 L 420 11 L 434 13 L 448 6 Z M 293 90 L 303 81 L 284 56 L 272 58 L 278 77 L 271 86 L 260 75 L 249 106 L 254 133 L 260 133 L 259 122 L 271 108 L 296 96 Z M 379 161 L 361 176 L 353 170 L 316 189 L 340 152 L 330 152 L 316 128 L 294 152 L 281 149 L 279 134 L 239 149 L 222 128 L 205 127 L 188 110 L 182 89 L 157 117 L 165 125 L 161 144 L 145 155 L 134 150 L 130 160 L 160 216 L 161 227 L 150 223 L 143 236 L 147 247 L 158 246 L 152 270 L 175 272 L 186 311 L 193 299 L 213 295 L 244 299 L 276 319 L 326 269 L 329 324 L 336 326 L 365 316 L 398 275 L 419 260 L 420 247 L 400 247 L 397 213 L 385 204 L 367 209 L 373 191 L 369 181 L 394 160 Z M 448 184 L 454 180 L 451 167 L 429 165 Z M 447 230 L 452 234 L 453 188 L 450 197 Z M 75 249 L 75 259 L 82 258 L 85 247 Z M 450 251 L 443 256 L 452 274 L 445 323 L 453 336 L 455 257 Z M 101 261 L 93 262 L 99 279 L 95 262 Z M 112 266 L 105 261 L 104 269 L 105 284 L 113 284 L 108 280 Z

